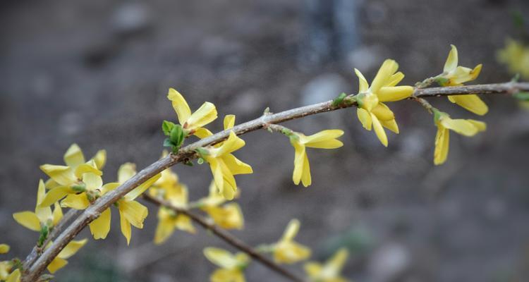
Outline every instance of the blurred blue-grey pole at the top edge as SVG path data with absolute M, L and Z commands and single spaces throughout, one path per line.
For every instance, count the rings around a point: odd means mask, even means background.
M 305 0 L 300 67 L 342 59 L 358 47 L 358 0 Z

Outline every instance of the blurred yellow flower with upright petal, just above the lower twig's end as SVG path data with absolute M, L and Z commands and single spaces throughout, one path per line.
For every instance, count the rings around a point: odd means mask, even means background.
M 293 264 L 310 257 L 310 248 L 300 245 L 294 241 L 298 234 L 300 222 L 297 219 L 292 219 L 288 226 L 286 226 L 285 233 L 281 240 L 275 243 L 272 247 L 274 252 L 274 260 L 278 263 Z

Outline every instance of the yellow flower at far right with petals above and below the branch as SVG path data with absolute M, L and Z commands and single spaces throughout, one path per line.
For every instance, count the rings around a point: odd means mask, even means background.
M 441 86 L 459 86 L 464 82 L 475 80 L 480 75 L 482 65 L 479 64 L 475 68 L 466 68 L 458 66 L 458 52 L 454 45 L 450 45 L 451 50 L 444 63 L 443 73 L 437 76 L 437 82 Z M 478 114 L 480 116 L 487 114 L 489 107 L 476 94 L 468 95 L 452 95 L 448 97 L 449 101 L 464 109 Z

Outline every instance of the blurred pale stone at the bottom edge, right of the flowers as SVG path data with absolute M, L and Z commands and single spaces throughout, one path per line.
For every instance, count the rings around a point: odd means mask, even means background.
M 372 255 L 368 269 L 373 282 L 395 281 L 411 266 L 410 252 L 399 243 L 387 243 Z

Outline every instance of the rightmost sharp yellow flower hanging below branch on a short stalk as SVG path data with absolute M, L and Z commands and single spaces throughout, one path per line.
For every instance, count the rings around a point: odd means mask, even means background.
M 487 129 L 482 121 L 473 119 L 451 119 L 446 113 L 434 111 L 434 122 L 437 125 L 435 136 L 434 164 L 443 164 L 448 156 L 450 130 L 465 136 L 474 136 Z

